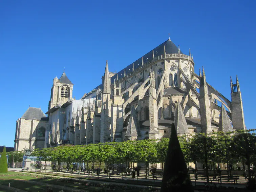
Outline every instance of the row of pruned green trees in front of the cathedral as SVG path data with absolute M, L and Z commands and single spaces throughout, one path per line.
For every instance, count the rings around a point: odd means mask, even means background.
M 250 164 L 256 162 L 256 136 L 255 130 L 246 132 L 215 132 L 213 134 L 195 134 L 179 137 L 187 164 L 194 163 L 197 174 L 197 164 L 205 165 L 207 182 L 209 182 L 208 166 L 219 166 L 226 163 L 230 165 L 241 162 L 248 166 L 248 176 L 251 178 Z M 122 163 L 129 167 L 130 162 L 143 162 L 146 166 L 146 176 L 149 175 L 149 164 L 166 161 L 169 138 L 162 138 L 158 142 L 153 140 L 111 142 L 89 145 L 62 145 L 54 148 L 35 150 L 33 155 L 41 157 L 41 161 L 72 163 L 105 164 L 107 168 L 113 164 Z M 175 165 L 173 165 L 175 166 Z M 163 167 L 163 166 L 162 166 Z M 215 170 L 215 169 L 214 169 Z

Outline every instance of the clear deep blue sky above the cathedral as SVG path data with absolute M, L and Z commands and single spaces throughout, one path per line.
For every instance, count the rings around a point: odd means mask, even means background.
M 47 111 L 63 67 L 73 96 L 171 40 L 194 56 L 195 72 L 230 99 L 238 75 L 247 128 L 255 128 L 256 1 L 1 1 L 0 145 L 14 146 L 28 106 Z

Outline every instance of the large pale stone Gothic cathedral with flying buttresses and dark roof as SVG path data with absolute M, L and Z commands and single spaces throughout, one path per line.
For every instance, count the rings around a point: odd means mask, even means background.
M 238 78 L 230 101 L 170 38 L 118 73 L 108 65 L 102 84 L 79 100 L 65 71 L 54 78 L 48 111 L 29 107 L 16 121 L 14 150 L 160 139 L 172 123 L 178 135 L 246 129 Z

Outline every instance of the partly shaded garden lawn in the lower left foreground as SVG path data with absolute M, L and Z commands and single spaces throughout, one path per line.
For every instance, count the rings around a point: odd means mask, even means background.
M 27 181 L 34 181 L 38 182 L 29 183 Z M 100 184 L 100 183 L 90 183 L 89 181 L 79 181 L 73 180 L 71 178 L 58 178 L 58 177 L 50 177 L 49 175 L 36 175 L 31 173 L 25 172 L 12 172 L 9 171 L 8 173 L 0 173 L 0 184 L 8 186 L 10 183 L 10 187 L 15 187 L 18 189 L 22 189 L 25 191 L 31 192 L 45 192 L 47 189 L 47 184 L 54 184 L 56 188 L 53 188 L 54 192 L 59 192 L 61 190 L 61 186 L 70 187 L 74 190 L 83 190 L 85 192 L 94 191 L 99 192 L 102 191 L 123 191 L 123 192 L 139 192 L 142 189 L 138 189 L 135 187 L 126 187 L 126 186 L 116 186 L 114 184 Z M 58 188 L 58 186 L 60 188 Z M 6 191 L 6 190 L 4 190 Z M 65 189 L 64 192 L 69 192 L 70 190 Z M 73 190 L 71 190 L 73 191 Z M 1 188 L 0 188 L 1 192 Z

